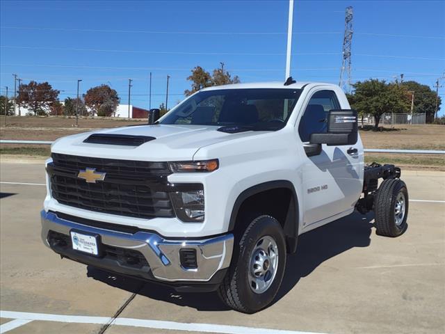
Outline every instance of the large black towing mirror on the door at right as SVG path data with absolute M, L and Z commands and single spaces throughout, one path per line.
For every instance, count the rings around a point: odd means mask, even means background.
M 311 134 L 309 143 L 334 145 L 354 145 L 357 143 L 357 111 L 331 110 L 327 115 L 327 132 Z

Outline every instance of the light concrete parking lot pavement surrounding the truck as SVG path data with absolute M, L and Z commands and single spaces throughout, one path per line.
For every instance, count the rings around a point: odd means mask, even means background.
M 1 333 L 445 333 L 444 172 L 402 173 L 411 202 L 399 238 L 359 214 L 302 235 L 275 303 L 244 315 L 216 294 L 60 260 L 40 240 L 42 163 L 0 168 Z

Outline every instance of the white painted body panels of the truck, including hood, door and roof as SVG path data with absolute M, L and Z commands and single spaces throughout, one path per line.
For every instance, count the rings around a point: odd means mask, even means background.
M 61 138 L 52 146 L 55 153 L 128 159 L 138 161 L 190 161 L 219 159 L 220 168 L 213 173 L 173 173 L 173 184 L 202 183 L 205 194 L 205 220 L 184 223 L 179 218 L 142 219 L 91 212 L 69 207 L 51 198 L 44 201 L 45 211 L 63 212 L 72 216 L 107 223 L 136 226 L 154 230 L 165 237 L 206 237 L 223 234 L 236 198 L 252 186 L 269 181 L 287 180 L 298 196 L 298 233 L 307 232 L 353 211 L 363 184 L 363 147 L 358 139 L 351 157 L 347 146 L 323 146 L 323 152 L 308 158 L 298 135 L 302 111 L 311 95 L 318 90 L 333 90 L 342 109 L 350 109 L 346 96 L 332 84 L 282 83 L 236 84 L 223 89 L 305 87 L 286 126 L 276 132 L 241 132 L 227 134 L 218 127 L 202 125 L 147 125 L 121 127 L 100 131 L 103 134 L 131 134 L 156 137 L 138 147 L 83 143 L 91 133 Z M 205 88 L 218 90 L 220 87 Z M 162 118 L 161 118 L 162 120 Z M 308 189 L 324 186 L 323 191 Z M 297 222 L 296 222 L 297 223 Z

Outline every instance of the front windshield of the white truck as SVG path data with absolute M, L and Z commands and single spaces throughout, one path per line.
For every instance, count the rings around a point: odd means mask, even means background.
M 282 129 L 300 97 L 300 89 L 246 88 L 202 91 L 170 111 L 161 124 Z

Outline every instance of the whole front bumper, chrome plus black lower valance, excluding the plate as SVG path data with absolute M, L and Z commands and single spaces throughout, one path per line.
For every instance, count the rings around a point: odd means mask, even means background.
M 117 232 L 108 229 L 84 225 L 75 221 L 59 218 L 54 212 L 40 213 L 42 220 L 42 240 L 45 245 L 63 257 L 102 267 L 118 273 L 168 282 L 206 283 L 212 280 L 218 271 L 227 269 L 232 259 L 234 245 L 233 234 L 225 234 L 204 240 L 194 239 L 164 239 L 154 232 L 140 231 L 136 233 Z M 148 266 L 132 267 L 106 256 L 95 257 L 72 250 L 69 244 L 64 247 L 50 244 L 49 235 L 65 236 L 70 242 L 70 230 L 78 230 L 100 236 L 104 247 L 113 249 L 137 251 L 145 257 Z M 52 232 L 51 232 L 52 231 Z M 51 234 L 50 234 L 51 233 Z M 186 269 L 181 266 L 179 250 L 181 248 L 196 250 L 196 269 Z

